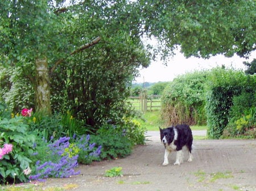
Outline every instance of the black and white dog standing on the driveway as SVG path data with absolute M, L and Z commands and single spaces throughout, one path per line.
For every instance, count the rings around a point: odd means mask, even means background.
M 171 151 L 177 151 L 176 162 L 174 165 L 180 165 L 183 159 L 182 148 L 184 146 L 188 149 L 188 162 L 192 162 L 192 142 L 193 136 L 192 131 L 188 125 L 176 125 L 166 129 L 160 129 L 160 139 L 164 144 L 166 151 L 164 152 L 163 165 L 168 165 L 168 155 Z

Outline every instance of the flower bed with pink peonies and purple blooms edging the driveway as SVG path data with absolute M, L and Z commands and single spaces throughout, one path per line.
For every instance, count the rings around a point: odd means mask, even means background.
M 129 118 L 122 121 L 123 125 L 106 123 L 89 135 L 70 112 L 42 117 L 23 109 L 13 114 L 1 104 L 0 184 L 69 177 L 79 173 L 79 163 L 131 154 L 133 145 L 144 143 L 145 129 Z

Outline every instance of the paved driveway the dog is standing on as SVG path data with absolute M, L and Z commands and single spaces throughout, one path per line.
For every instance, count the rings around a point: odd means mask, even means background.
M 81 175 L 68 179 L 48 179 L 44 186 L 62 186 L 75 191 L 86 190 L 256 190 L 255 140 L 194 141 L 193 161 L 162 166 L 164 146 L 159 134 L 152 133 L 146 145 L 136 146 L 133 154 L 123 159 L 79 165 Z M 105 177 L 107 169 L 122 167 L 122 177 Z

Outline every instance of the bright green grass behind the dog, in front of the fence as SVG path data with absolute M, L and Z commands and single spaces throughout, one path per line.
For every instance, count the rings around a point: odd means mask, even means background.
M 143 128 L 148 131 L 158 131 L 159 127 L 164 127 L 164 121 L 161 119 L 161 111 L 148 111 L 142 114 L 143 120 L 139 120 Z M 207 126 L 191 126 L 192 130 L 207 130 Z

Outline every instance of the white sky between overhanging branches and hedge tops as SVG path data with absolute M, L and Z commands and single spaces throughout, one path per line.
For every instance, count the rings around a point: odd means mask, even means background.
M 140 76 L 135 78 L 135 83 L 143 82 L 170 82 L 177 75 L 185 74 L 195 70 L 212 69 L 213 67 L 224 65 L 226 68 L 242 69 L 245 70 L 243 62 L 251 62 L 256 58 L 256 51 L 251 53 L 249 59 L 240 58 L 234 55 L 227 58 L 223 55 L 217 55 L 209 59 L 203 58 L 185 58 L 182 53 L 177 50 L 176 55 L 167 63 L 167 66 L 162 61 L 151 61 L 150 66 L 146 69 L 139 69 Z

